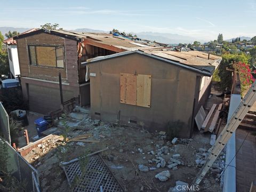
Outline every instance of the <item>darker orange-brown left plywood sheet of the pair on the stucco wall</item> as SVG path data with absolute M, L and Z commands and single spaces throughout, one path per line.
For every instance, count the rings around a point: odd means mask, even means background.
M 120 102 L 136 105 L 136 76 L 120 74 Z

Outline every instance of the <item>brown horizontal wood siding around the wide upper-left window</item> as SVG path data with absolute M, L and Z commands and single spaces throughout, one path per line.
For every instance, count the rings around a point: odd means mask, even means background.
M 65 47 L 65 68 L 30 65 L 28 45 L 53 45 Z M 78 84 L 76 41 L 42 33 L 17 39 L 17 47 L 21 76 L 58 82 L 58 75 L 61 73 L 63 82 L 73 85 Z

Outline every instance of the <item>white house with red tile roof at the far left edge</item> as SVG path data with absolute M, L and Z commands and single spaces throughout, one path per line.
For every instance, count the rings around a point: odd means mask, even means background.
M 36 29 L 30 29 L 25 31 L 22 34 L 30 33 Z M 5 39 L 3 43 L 7 47 L 8 58 L 9 58 L 9 66 L 11 71 L 11 78 L 15 78 L 20 75 L 20 66 L 19 66 L 19 58 L 18 58 L 18 51 L 17 51 L 17 43 L 13 38 Z

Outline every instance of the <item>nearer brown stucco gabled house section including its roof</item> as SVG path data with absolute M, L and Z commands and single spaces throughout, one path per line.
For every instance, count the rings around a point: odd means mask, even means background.
M 164 51 L 163 51 L 164 50 Z M 90 59 L 91 116 L 190 137 L 221 57 L 148 49 Z M 169 125 L 168 125 L 169 123 Z

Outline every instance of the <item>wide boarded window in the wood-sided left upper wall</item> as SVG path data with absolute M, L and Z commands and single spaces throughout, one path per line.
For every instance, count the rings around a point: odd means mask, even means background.
M 64 49 L 61 46 L 29 46 L 30 65 L 64 68 Z

